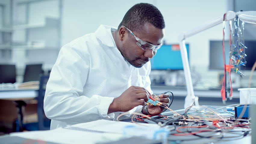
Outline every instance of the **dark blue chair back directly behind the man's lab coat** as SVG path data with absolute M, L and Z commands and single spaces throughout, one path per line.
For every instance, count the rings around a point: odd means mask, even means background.
M 37 113 L 38 113 L 38 129 L 39 130 L 49 130 L 51 120 L 45 116 L 44 113 L 44 97 L 46 83 L 48 82 L 49 75 L 40 75 L 39 91 L 37 97 Z

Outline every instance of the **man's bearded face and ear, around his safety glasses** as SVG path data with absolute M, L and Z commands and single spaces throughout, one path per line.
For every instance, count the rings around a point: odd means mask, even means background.
M 142 50 L 137 44 L 136 38 L 124 27 L 120 28 L 123 34 L 123 40 L 120 45 L 120 52 L 123 57 L 134 67 L 142 67 L 147 63 L 150 58 L 155 56 L 156 51 Z M 146 41 L 153 45 L 159 45 L 162 43 L 164 37 L 164 29 L 158 29 L 150 23 L 144 25 L 144 29 L 141 32 L 133 32 L 133 34 L 143 41 Z

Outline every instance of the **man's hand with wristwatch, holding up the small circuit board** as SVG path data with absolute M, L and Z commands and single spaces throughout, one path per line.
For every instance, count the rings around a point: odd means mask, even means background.
M 169 104 L 169 101 L 170 101 L 168 94 L 161 94 L 161 95 L 159 95 L 159 98 L 158 98 L 157 95 L 154 95 L 154 94 L 153 94 L 152 97 L 153 97 L 155 100 L 160 101 L 161 103 L 163 103 L 164 105 L 166 105 L 166 106 L 168 107 L 168 104 Z M 164 106 L 164 105 L 162 105 L 162 106 Z M 163 107 L 154 106 L 154 105 L 153 105 L 153 106 L 150 106 L 150 104 L 147 105 L 146 107 L 148 107 L 148 113 L 149 113 L 150 115 L 158 115 L 158 114 L 162 113 L 163 110 L 164 110 Z

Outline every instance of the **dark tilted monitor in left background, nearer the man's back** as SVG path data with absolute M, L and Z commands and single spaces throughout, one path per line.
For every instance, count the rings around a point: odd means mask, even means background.
M 23 82 L 39 80 L 41 73 L 43 73 L 42 64 L 28 64 L 25 68 Z

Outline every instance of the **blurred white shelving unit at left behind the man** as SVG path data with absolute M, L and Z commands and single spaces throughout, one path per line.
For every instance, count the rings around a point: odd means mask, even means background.
M 16 81 L 26 64 L 42 63 L 43 70 L 51 70 L 61 48 L 61 13 L 62 0 L 0 2 L 0 61 L 16 64 Z

